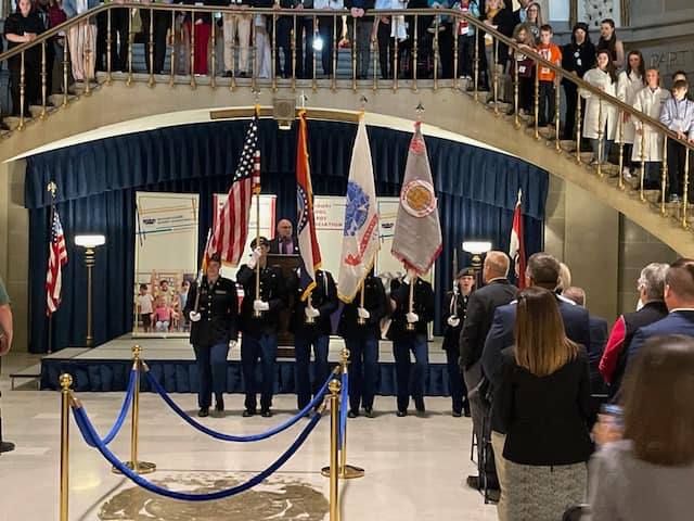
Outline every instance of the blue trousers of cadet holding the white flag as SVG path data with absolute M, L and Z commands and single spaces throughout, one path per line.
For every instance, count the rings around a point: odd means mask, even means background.
M 373 408 L 378 381 L 378 340 L 370 334 L 365 339 L 345 339 L 349 350 L 349 408 Z

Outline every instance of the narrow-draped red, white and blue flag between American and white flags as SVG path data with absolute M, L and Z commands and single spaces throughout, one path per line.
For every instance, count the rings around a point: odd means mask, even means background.
M 316 271 L 321 267 L 321 250 L 316 238 L 313 216 L 313 189 L 308 163 L 306 111 L 299 112 L 299 131 L 296 144 L 296 209 L 297 234 L 300 255 L 301 301 L 316 288 Z

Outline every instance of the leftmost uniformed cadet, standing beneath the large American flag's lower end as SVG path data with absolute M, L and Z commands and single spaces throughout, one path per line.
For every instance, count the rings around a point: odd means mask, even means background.
M 209 415 L 213 392 L 215 409 L 218 412 L 224 410 L 229 342 L 239 338 L 236 284 L 219 275 L 220 267 L 219 255 L 213 255 L 205 276 L 191 285 L 184 309 L 191 319 L 191 344 L 197 365 L 200 417 Z

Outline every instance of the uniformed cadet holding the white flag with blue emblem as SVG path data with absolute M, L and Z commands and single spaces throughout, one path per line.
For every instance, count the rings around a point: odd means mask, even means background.
M 378 340 L 381 319 L 386 315 L 386 291 L 378 277 L 364 279 L 364 305 L 361 290 L 345 304 L 338 332 L 349 350 L 349 418 L 359 416 L 360 406 L 367 418 L 373 418 L 373 398 L 378 382 Z

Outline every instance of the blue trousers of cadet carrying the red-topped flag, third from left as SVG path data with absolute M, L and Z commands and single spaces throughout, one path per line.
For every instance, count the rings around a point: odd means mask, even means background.
M 327 365 L 327 345 L 330 336 L 323 334 L 320 336 L 304 336 L 297 334 L 294 336 L 294 353 L 296 355 L 296 401 L 299 409 L 303 409 L 311 401 L 311 390 L 314 394 L 330 374 L 330 366 Z M 311 386 L 311 378 L 309 374 L 309 365 L 311 361 L 311 345 L 313 346 L 313 355 L 316 356 L 316 367 L 313 371 L 313 385 Z

